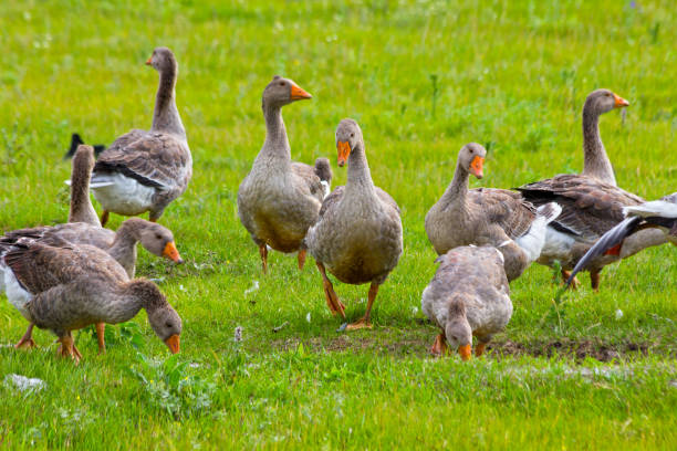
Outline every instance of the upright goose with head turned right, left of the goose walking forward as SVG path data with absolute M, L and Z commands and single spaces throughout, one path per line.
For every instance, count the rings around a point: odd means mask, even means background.
M 303 269 L 306 250 L 303 238 L 317 220 L 322 200 L 329 192 L 332 170 L 326 158 L 315 167 L 291 160 L 282 107 L 312 98 L 292 80 L 275 75 L 263 91 L 265 141 L 251 171 L 238 190 L 238 216 L 259 247 L 263 273 L 268 272 L 268 249 L 299 252 Z

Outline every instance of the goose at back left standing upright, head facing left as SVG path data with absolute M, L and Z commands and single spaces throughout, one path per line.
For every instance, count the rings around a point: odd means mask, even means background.
M 146 61 L 159 72 L 153 126 L 117 138 L 96 160 L 92 175 L 94 197 L 108 213 L 136 216 L 149 211 L 156 222 L 165 208 L 186 191 L 192 157 L 176 107 L 178 64 L 174 53 L 157 48 Z

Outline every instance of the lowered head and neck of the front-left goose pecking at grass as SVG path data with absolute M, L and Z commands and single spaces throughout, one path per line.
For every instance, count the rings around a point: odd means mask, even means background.
M 157 285 L 145 279 L 136 279 L 129 282 L 128 291 L 146 308 L 148 322 L 155 335 L 167 345 L 171 354 L 178 353 L 183 328 L 181 317 L 167 303 L 167 298 Z

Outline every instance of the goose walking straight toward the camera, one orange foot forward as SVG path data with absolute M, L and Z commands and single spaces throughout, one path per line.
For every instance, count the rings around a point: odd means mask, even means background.
M 326 271 L 343 283 L 371 283 L 364 317 L 347 325 L 347 329 L 371 328 L 378 287 L 395 269 L 403 251 L 399 207 L 387 192 L 374 186 L 362 129 L 355 120 L 341 120 L 336 148 L 338 166 L 347 161 L 347 181 L 324 200 L 305 242 L 322 275 L 324 295 L 333 314 L 340 313 L 345 318 L 345 307 Z

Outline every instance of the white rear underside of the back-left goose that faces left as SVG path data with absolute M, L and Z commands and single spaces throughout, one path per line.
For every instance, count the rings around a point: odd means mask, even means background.
M 92 178 L 90 188 L 104 209 L 126 216 L 148 211 L 156 192 L 156 188 L 142 185 L 122 174 L 97 175 Z

